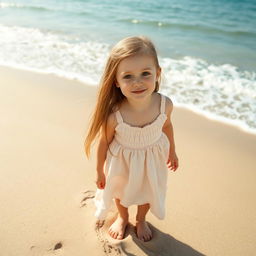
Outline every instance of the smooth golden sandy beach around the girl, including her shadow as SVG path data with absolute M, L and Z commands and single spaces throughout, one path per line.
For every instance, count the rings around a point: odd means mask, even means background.
M 84 153 L 96 88 L 0 68 L 0 255 L 255 255 L 256 136 L 175 107 L 180 167 L 153 239 L 95 229 L 95 152 Z

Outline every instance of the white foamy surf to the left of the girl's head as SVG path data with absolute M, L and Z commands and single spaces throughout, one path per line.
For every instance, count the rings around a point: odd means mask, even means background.
M 0 25 L 0 64 L 99 82 L 109 46 L 39 29 Z

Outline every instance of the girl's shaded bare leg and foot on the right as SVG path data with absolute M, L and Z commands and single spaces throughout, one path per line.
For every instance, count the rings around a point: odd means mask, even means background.
M 149 204 L 138 205 L 136 216 L 137 236 L 140 240 L 147 242 L 152 238 L 152 231 L 146 222 L 146 214 L 150 208 Z

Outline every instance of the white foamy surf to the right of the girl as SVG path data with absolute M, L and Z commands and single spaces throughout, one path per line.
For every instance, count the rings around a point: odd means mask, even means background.
M 256 133 L 256 74 L 185 57 L 164 58 L 162 90 L 177 105 Z

